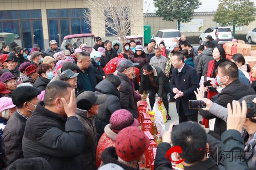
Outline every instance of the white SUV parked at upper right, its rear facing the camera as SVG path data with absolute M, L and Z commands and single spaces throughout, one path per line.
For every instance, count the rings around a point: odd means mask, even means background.
M 207 35 L 211 35 L 216 44 L 232 42 L 234 38 L 229 27 L 210 27 L 200 35 L 199 44 L 206 41 L 205 37 L 207 37 Z

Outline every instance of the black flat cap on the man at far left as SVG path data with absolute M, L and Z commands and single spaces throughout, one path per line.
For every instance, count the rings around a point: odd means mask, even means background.
M 32 86 L 20 86 L 15 88 L 12 92 L 12 102 L 16 106 L 23 105 L 23 103 L 28 102 L 39 94 L 41 94 L 41 90 L 39 88 Z

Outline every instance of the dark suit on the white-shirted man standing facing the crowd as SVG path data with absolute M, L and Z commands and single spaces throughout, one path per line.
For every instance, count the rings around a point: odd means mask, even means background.
M 197 109 L 189 109 L 189 100 L 196 100 L 194 91 L 200 86 L 195 68 L 192 68 L 186 63 L 184 64 L 180 73 L 177 68 L 172 70 L 171 91 L 173 88 L 177 88 L 179 91 L 183 92 L 184 96 L 176 99 L 176 109 L 177 113 L 179 113 L 181 101 L 185 115 L 187 116 L 198 113 Z

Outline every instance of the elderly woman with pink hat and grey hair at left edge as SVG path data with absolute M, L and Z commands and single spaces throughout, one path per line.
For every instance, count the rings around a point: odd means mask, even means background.
M 3 130 L 6 127 L 8 119 L 16 111 L 16 106 L 12 103 L 12 99 L 8 97 L 0 98 L 0 161 L 3 162 L 3 152 L 2 152 L 2 135 Z M 3 164 L 0 165 L 0 168 L 3 169 Z

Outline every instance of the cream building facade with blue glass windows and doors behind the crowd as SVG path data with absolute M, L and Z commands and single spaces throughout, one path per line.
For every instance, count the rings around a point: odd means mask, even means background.
M 142 0 L 138 4 L 143 8 Z M 84 22 L 85 10 L 88 8 L 82 0 L 0 0 L 0 32 L 17 34 L 15 42 L 20 47 L 32 48 L 37 43 L 42 50 L 49 47 L 50 40 L 61 45 L 70 34 L 105 37 L 104 27 L 90 27 Z M 143 12 L 140 15 L 143 20 Z M 143 35 L 143 22 L 131 29 L 131 34 Z

